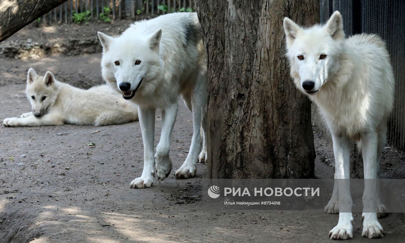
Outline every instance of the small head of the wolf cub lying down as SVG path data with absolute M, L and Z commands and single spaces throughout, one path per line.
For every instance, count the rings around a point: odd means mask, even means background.
M 45 76 L 39 76 L 33 68 L 30 68 L 27 75 L 26 94 L 31 102 L 32 113 L 36 117 L 45 115 L 58 97 L 55 77 L 49 71 Z

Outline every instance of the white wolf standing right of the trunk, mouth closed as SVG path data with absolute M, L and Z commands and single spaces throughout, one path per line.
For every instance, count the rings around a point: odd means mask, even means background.
M 285 18 L 284 30 L 294 83 L 319 107 L 332 134 L 335 179 L 341 180 L 335 180 L 333 196 L 325 209 L 337 211 L 336 206 L 340 212 L 329 237 L 353 238 L 349 187 L 352 141 L 358 143 L 364 162 L 362 236 L 383 237 L 377 211 L 384 213 L 386 208 L 379 202 L 376 179 L 395 83 L 384 42 L 371 34 L 345 39 L 343 19 L 337 11 L 326 25 L 307 29 Z

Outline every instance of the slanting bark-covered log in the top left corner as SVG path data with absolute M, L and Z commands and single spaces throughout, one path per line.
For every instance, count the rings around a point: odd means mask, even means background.
M 0 1 L 0 42 L 67 0 Z

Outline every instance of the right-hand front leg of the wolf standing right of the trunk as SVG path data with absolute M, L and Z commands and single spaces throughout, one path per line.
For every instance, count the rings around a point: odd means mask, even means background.
M 363 193 L 363 232 L 367 238 L 384 237 L 384 230 L 377 219 L 377 132 L 370 131 L 362 134 L 362 153 L 364 164 L 364 193 Z

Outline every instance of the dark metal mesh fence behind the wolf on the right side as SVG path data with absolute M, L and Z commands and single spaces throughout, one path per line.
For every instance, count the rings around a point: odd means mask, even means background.
M 333 11 L 342 14 L 346 36 L 360 32 L 374 33 L 386 42 L 396 81 L 394 111 L 388 124 L 388 142 L 405 150 L 405 1 L 320 0 L 320 6 L 323 22 L 328 20 Z

